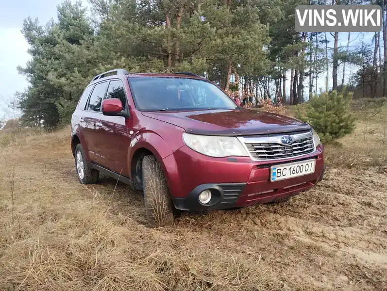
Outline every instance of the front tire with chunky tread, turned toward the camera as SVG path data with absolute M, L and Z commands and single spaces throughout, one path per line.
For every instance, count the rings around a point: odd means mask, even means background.
M 173 225 L 173 205 L 167 180 L 156 157 L 145 156 L 142 160 L 145 211 L 148 223 L 153 227 Z

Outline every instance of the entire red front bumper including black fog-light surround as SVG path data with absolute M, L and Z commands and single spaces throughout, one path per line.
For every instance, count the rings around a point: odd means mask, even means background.
M 274 164 L 316 159 L 315 172 L 309 175 L 270 181 Z M 183 146 L 163 160 L 173 203 L 180 210 L 215 210 L 267 203 L 308 191 L 324 175 L 323 146 L 297 159 L 252 161 L 247 157 L 211 158 Z M 209 189 L 215 199 L 199 202 L 199 194 Z

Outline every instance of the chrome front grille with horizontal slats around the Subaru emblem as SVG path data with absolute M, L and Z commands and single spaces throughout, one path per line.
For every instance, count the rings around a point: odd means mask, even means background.
M 281 137 L 284 135 L 290 135 L 293 143 L 282 144 Z M 241 140 L 254 160 L 286 159 L 309 154 L 315 150 L 311 131 L 275 136 L 243 137 Z

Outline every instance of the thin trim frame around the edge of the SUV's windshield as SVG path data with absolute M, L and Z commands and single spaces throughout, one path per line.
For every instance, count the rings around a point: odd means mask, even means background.
M 233 102 L 233 99 L 231 97 L 229 97 L 222 89 L 219 88 L 219 86 L 215 85 L 213 82 L 207 80 L 207 79 L 198 79 L 198 78 L 194 78 L 194 77 L 186 77 L 186 76 L 139 76 L 139 77 L 130 77 L 128 76 L 127 77 L 127 80 L 128 80 L 128 83 L 129 83 L 129 90 L 130 90 L 130 93 L 132 95 L 132 98 L 133 98 L 133 102 L 135 103 L 135 109 L 138 110 L 138 111 L 148 111 L 148 112 L 169 112 L 169 111 L 176 111 L 176 112 L 184 112 L 184 111 L 205 111 L 205 110 L 209 110 L 208 108 L 194 108 L 194 109 L 191 109 L 191 108 L 179 108 L 179 109 L 173 109 L 173 110 L 168 110 L 168 108 L 161 108 L 161 109 L 139 109 L 138 107 L 138 103 L 137 103 L 137 100 L 136 100 L 136 97 L 135 97 L 135 93 L 133 91 L 133 86 L 132 86 L 132 80 L 135 80 L 137 78 L 174 78 L 174 79 L 190 79 L 190 80 L 197 80 L 197 81 L 204 81 L 206 83 L 210 83 L 211 85 L 217 87 L 220 92 L 222 92 L 226 97 L 228 97 L 230 99 L 231 102 Z M 234 103 L 234 102 L 233 102 Z M 236 106 L 236 104 L 235 104 Z M 236 106 L 236 108 L 214 108 L 211 110 L 235 110 L 235 109 L 239 109 L 238 106 Z

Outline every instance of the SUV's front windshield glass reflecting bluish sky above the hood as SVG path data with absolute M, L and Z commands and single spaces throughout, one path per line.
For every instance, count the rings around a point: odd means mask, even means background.
M 217 86 L 203 80 L 172 77 L 129 78 L 138 110 L 185 111 L 236 109 Z

